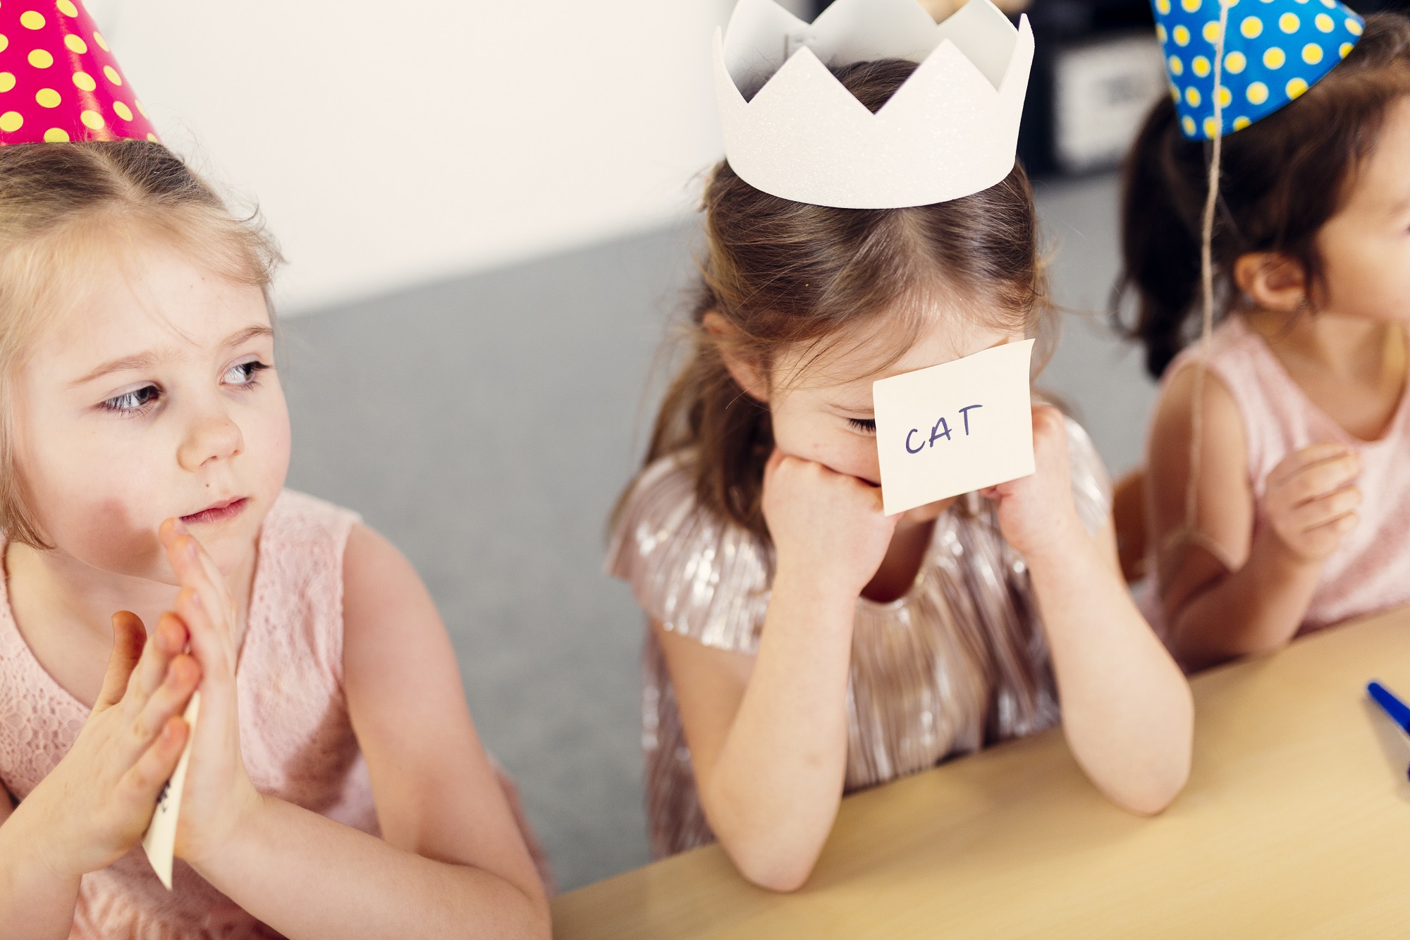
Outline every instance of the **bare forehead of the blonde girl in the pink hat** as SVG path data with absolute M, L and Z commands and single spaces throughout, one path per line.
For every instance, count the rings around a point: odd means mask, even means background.
M 269 325 L 264 292 L 216 274 L 159 241 L 87 251 L 68 274 L 34 344 L 35 357 L 111 358 L 133 351 L 207 349 L 231 332 Z

